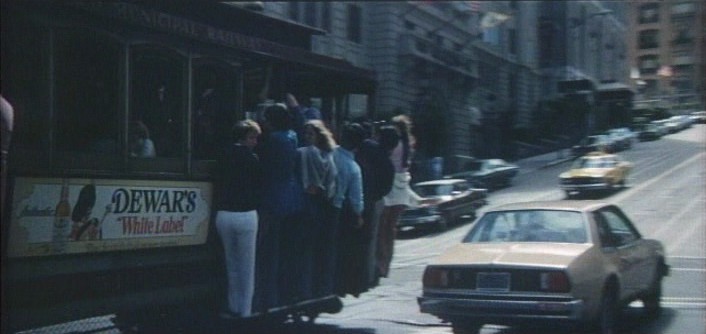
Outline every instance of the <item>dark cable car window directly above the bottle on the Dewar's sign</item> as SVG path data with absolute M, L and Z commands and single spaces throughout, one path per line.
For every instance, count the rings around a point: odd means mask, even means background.
M 92 30 L 61 29 L 54 51 L 57 150 L 119 156 L 120 45 Z

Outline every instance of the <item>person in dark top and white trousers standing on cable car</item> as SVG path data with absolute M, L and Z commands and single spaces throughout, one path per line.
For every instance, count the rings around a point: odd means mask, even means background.
M 255 292 L 255 251 L 262 168 L 253 152 L 260 126 L 251 120 L 233 126 L 234 143 L 225 148 L 215 183 L 216 228 L 223 242 L 228 281 L 224 318 L 248 317 Z

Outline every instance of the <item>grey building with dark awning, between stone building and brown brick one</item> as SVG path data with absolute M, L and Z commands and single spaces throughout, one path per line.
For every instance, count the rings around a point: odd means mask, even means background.
M 569 142 L 630 122 L 633 91 L 622 2 L 542 1 L 540 129 Z M 543 119 L 551 119 L 544 122 Z

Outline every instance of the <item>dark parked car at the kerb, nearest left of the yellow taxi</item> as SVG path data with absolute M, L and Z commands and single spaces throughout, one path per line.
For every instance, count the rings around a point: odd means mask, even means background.
M 512 184 L 519 167 L 503 159 L 474 159 L 465 164 L 465 169 L 446 178 L 465 179 L 476 188 L 498 189 Z

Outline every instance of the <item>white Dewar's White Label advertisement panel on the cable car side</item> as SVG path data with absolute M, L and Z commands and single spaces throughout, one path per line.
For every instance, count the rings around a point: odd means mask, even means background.
M 17 178 L 8 255 L 198 245 L 206 242 L 208 182 Z

